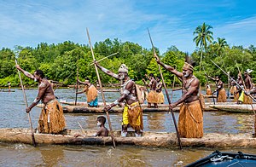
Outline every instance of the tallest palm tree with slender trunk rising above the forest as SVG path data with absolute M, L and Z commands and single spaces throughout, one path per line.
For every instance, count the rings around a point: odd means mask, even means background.
M 212 29 L 212 26 L 203 23 L 202 26 L 197 26 L 195 28 L 195 32 L 193 32 L 193 35 L 197 34 L 197 36 L 194 37 L 193 41 L 195 42 L 196 46 L 200 45 L 201 48 L 200 71 L 203 49 L 207 49 L 207 42 L 212 43 L 213 40 L 213 33 L 210 31 L 210 29 Z

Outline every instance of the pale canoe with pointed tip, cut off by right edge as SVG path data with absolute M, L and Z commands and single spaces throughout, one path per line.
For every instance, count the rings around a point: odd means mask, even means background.
M 209 107 L 218 109 L 224 112 L 251 112 L 256 111 L 256 104 L 233 104 L 233 105 L 210 105 Z

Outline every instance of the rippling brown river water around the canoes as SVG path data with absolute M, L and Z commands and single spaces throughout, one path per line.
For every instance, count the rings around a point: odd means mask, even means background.
M 171 92 L 171 90 L 169 90 Z M 30 105 L 38 93 L 37 89 L 26 90 Z M 74 101 L 74 89 L 57 89 L 55 95 L 59 100 Z M 175 91 L 173 101 L 177 101 L 181 92 Z M 119 93 L 105 93 L 107 102 L 119 97 Z M 86 101 L 84 95 L 78 101 Z M 99 95 L 99 101 L 102 101 Z M 29 128 L 22 90 L 0 92 L 0 128 Z M 36 128 L 41 109 L 34 107 L 31 112 L 32 125 Z M 65 114 L 67 129 L 96 130 L 96 118 L 99 114 Z M 122 115 L 110 114 L 113 130 L 120 130 Z M 178 119 L 178 113 L 175 112 Z M 204 112 L 204 132 L 218 133 L 253 133 L 252 114 L 231 114 L 227 112 Z M 143 113 L 144 131 L 175 132 L 172 114 Z M 108 124 L 106 123 L 108 127 Z M 215 150 L 223 152 L 256 154 L 256 149 L 248 148 L 154 148 L 117 146 L 52 146 L 32 147 L 26 144 L 0 142 L 0 166 L 184 166 L 203 158 Z

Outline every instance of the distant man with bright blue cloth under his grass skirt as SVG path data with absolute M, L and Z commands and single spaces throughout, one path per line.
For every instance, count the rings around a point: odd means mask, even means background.
M 90 83 L 89 78 L 86 78 L 84 82 L 78 79 L 79 83 L 85 84 L 83 91 L 78 92 L 77 94 L 82 94 L 85 92 L 88 107 L 98 107 L 98 90 L 96 87 Z

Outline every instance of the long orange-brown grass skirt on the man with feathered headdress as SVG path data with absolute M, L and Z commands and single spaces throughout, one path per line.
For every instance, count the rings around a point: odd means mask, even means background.
M 178 131 L 183 138 L 203 136 L 203 112 L 200 101 L 183 103 L 178 117 Z

